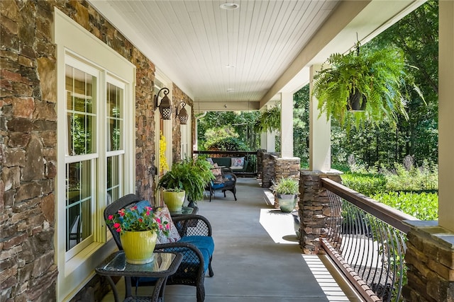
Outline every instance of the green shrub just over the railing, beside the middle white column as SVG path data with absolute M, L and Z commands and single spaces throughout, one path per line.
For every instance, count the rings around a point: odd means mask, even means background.
M 381 174 L 345 173 L 341 175 L 341 178 L 345 187 L 350 187 L 366 196 L 384 192 L 386 187 L 386 180 Z

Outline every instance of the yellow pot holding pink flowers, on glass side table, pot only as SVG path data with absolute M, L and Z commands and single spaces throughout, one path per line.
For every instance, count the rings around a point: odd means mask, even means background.
M 121 246 L 125 251 L 126 262 L 143 265 L 153 261 L 157 233 L 153 231 L 123 231 L 120 234 Z

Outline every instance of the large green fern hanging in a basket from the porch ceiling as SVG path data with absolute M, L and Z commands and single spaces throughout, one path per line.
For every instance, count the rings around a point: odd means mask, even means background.
M 331 54 L 328 64 L 314 76 L 312 95 L 319 100 L 320 112 L 341 124 L 347 121 L 348 128 L 353 120 L 358 128 L 365 122 L 396 120 L 399 114 L 408 119 L 405 103 L 410 83 L 422 98 L 406 75 L 404 54 L 397 48 L 360 52 L 358 42 L 348 54 Z M 346 118 L 347 112 L 353 112 L 351 119 Z

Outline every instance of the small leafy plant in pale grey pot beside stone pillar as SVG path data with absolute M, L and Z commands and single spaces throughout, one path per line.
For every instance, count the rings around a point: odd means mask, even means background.
M 278 182 L 272 180 L 270 189 L 275 193 L 281 211 L 286 213 L 293 211 L 297 204 L 299 193 L 298 180 L 291 177 L 281 178 Z

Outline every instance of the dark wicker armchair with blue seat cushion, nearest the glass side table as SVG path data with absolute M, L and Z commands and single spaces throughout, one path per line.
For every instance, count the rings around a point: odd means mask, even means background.
M 119 209 L 127 207 L 129 204 L 140 202 L 135 194 L 128 194 L 109 204 L 104 210 L 104 219 L 109 215 L 115 214 Z M 208 272 L 209 277 L 214 276 L 211 268 L 213 258 L 214 241 L 211 237 L 211 224 L 200 215 L 183 215 L 172 217 L 177 227 L 181 240 L 176 243 L 157 244 L 155 250 L 175 251 L 183 254 L 182 263 L 179 265 L 177 272 L 168 277 L 167 285 L 183 284 L 196 286 L 197 302 L 205 299 L 204 280 Z M 123 250 L 120 242 L 120 235 L 112 226 L 107 225 L 114 237 L 115 243 L 119 250 Z M 135 278 L 131 281 L 135 286 L 150 286 L 155 283 L 153 278 Z M 126 280 L 128 288 L 128 280 Z

